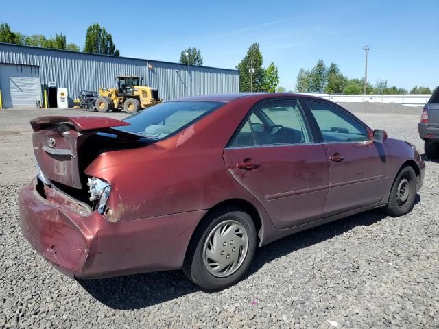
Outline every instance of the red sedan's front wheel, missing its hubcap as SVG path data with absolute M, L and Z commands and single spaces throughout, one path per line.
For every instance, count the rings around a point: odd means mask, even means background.
M 415 197 L 416 174 L 412 167 L 403 167 L 393 182 L 384 211 L 392 217 L 403 216 L 412 211 Z

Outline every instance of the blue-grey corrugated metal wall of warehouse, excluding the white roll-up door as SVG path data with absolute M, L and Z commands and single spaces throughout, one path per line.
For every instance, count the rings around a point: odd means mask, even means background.
M 209 93 L 237 93 L 239 71 L 206 66 L 56 51 L 0 43 L 0 64 L 40 66 L 43 88 L 66 87 L 70 105 L 80 90 L 115 87 L 117 75 L 137 75 L 165 100 Z M 150 64 L 150 69 L 148 69 Z M 1 86 L 0 86 L 1 88 Z

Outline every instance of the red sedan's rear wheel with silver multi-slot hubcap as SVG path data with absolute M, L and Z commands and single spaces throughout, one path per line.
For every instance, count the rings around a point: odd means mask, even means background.
M 209 243 L 213 242 L 213 235 L 219 238 L 216 246 L 219 248 L 214 248 L 213 243 Z M 235 207 L 214 210 L 195 230 L 182 270 L 189 280 L 202 289 L 222 290 L 244 277 L 254 258 L 256 243 L 256 229 L 248 213 Z M 215 257 L 217 263 L 207 256 L 209 253 Z

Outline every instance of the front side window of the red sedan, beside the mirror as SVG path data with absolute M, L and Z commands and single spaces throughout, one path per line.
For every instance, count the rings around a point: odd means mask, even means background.
M 306 101 L 325 142 L 368 141 L 364 125 L 340 108 L 318 101 Z

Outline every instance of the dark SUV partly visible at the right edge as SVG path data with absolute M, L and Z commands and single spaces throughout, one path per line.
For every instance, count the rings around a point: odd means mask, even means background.
M 425 143 L 425 155 L 431 159 L 439 158 L 439 87 L 425 104 L 418 129 Z

